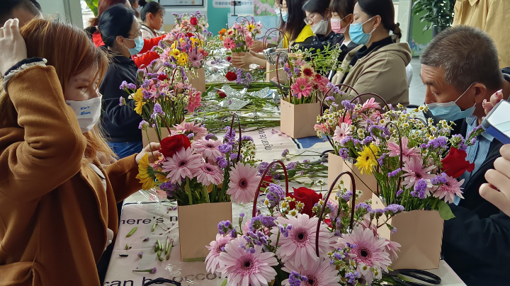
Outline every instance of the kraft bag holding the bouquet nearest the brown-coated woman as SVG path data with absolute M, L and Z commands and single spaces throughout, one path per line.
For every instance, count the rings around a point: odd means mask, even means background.
M 232 202 L 178 206 L 177 213 L 181 261 L 205 261 L 205 246 L 216 239 L 218 222 L 232 222 Z

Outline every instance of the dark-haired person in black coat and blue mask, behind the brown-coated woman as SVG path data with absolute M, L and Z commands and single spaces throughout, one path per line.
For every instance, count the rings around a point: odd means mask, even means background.
M 133 110 L 134 101 L 128 100 L 129 94 L 120 88 L 124 81 L 138 84 L 138 68 L 131 56 L 140 49 L 142 34 L 135 13 L 122 5 L 113 6 L 101 14 L 98 28 L 106 44 L 103 48 L 112 55 L 111 64 L 99 86 L 99 92 L 103 94 L 102 126 L 110 147 L 124 158 L 143 148 L 142 132 L 138 129 L 142 117 Z M 143 47 L 143 40 L 141 42 Z M 131 108 L 120 106 L 120 97 L 125 98 Z

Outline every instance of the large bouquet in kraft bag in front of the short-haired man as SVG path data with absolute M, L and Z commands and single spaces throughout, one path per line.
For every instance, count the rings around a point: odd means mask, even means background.
M 356 98 L 355 98 L 356 99 Z M 373 176 L 378 188 L 374 192 L 375 206 L 399 204 L 406 212 L 392 219 L 392 226 L 407 231 L 382 236 L 402 244 L 402 256 L 392 268 L 438 268 L 443 219 L 453 218 L 447 202 L 462 198 L 457 177 L 472 171 L 473 164 L 465 160 L 465 148 L 474 144 L 482 132 L 475 129 L 467 140 L 460 135 L 450 137 L 453 122 L 433 124 L 417 113 L 427 110 L 420 106 L 407 113 L 402 105 L 382 108 L 370 98 L 363 104 L 342 101 L 345 110 L 340 116 L 330 110 L 320 118 L 319 133 L 331 132 L 329 124 L 337 124 L 331 142 L 343 159 L 354 158 L 361 173 Z M 334 106 L 334 105 L 333 105 Z M 327 114 L 327 115 L 326 115 Z M 334 121 L 338 120 L 336 123 Z M 324 129 L 322 129 L 324 128 Z M 409 231 L 414 226 L 413 231 Z

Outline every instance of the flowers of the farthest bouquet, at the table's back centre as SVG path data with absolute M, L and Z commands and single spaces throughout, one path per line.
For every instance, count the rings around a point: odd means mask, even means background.
M 262 24 L 256 23 L 254 18 L 248 20 L 241 17 L 240 22 L 234 22 L 232 28 L 220 30 L 220 38 L 223 40 L 223 46 L 232 52 L 249 52 L 254 45 L 256 35 L 262 31 Z

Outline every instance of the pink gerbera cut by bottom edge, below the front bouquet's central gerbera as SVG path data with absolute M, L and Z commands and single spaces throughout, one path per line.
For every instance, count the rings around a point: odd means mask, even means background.
M 307 280 L 302 281 L 300 286 L 339 285 L 338 270 L 329 263 L 329 260 L 317 259 L 317 261 L 311 261 L 307 268 L 294 267 L 292 263 L 285 263 L 285 267 L 282 270 L 288 273 L 295 271 L 302 276 L 306 276 Z M 288 279 L 283 280 L 282 285 L 290 285 Z

